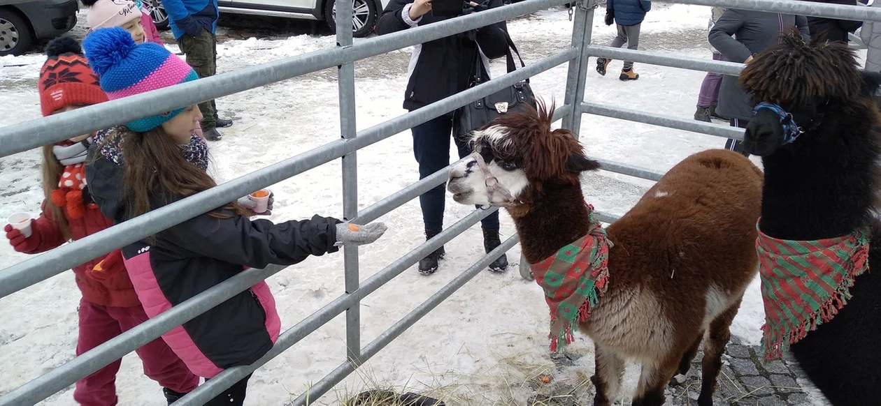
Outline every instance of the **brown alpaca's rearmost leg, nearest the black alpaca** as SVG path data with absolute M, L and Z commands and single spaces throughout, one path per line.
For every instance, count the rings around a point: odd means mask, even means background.
M 740 308 L 738 300 L 733 306 L 725 310 L 722 315 L 715 318 L 710 323 L 709 334 L 704 342 L 704 359 L 701 361 L 701 380 L 700 380 L 700 396 L 698 397 L 699 406 L 710 406 L 713 404 L 713 392 L 718 385 L 717 378 L 719 371 L 722 369 L 722 353 L 725 352 L 725 345 L 731 338 L 731 322 L 737 315 L 737 309 Z

